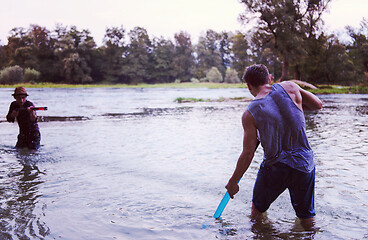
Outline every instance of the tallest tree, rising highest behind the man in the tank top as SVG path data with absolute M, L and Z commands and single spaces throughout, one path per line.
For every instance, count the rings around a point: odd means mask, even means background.
M 280 80 L 289 78 L 289 66 L 298 66 L 300 59 L 307 55 L 305 39 L 321 27 L 321 16 L 331 0 L 241 0 L 246 14 L 241 18 L 247 22 L 256 16 L 256 32 L 263 44 L 271 42 L 273 49 L 282 60 Z M 298 75 L 298 74 L 296 74 Z

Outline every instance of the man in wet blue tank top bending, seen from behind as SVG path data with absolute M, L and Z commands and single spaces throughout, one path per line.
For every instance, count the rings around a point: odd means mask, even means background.
M 234 198 L 239 191 L 237 183 L 248 169 L 260 141 L 264 159 L 254 184 L 252 218 L 261 217 L 288 189 L 301 224 L 311 228 L 315 216 L 315 170 L 303 110 L 319 110 L 322 102 L 293 82 L 271 86 L 271 76 L 264 65 L 247 67 L 243 81 L 255 99 L 242 116 L 243 151 L 226 189 Z

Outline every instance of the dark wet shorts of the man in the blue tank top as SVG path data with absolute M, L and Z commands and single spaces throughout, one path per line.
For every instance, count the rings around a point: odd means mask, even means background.
M 276 198 L 289 189 L 291 203 L 299 218 L 311 218 L 314 210 L 315 169 L 310 173 L 295 170 L 286 164 L 276 163 L 260 167 L 253 189 L 253 204 L 265 212 Z

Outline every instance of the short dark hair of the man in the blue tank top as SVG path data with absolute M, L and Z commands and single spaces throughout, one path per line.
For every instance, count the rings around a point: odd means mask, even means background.
M 263 64 L 255 64 L 245 68 L 242 80 L 253 87 L 258 87 L 268 83 L 270 73 Z

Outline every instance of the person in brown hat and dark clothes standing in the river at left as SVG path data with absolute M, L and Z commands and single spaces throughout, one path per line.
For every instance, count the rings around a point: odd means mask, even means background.
M 41 134 L 38 128 L 36 111 L 32 110 L 33 103 L 27 100 L 27 91 L 24 87 L 17 87 L 12 94 L 15 101 L 10 104 L 6 119 L 8 122 L 17 120 L 19 135 L 16 147 L 38 149 Z

